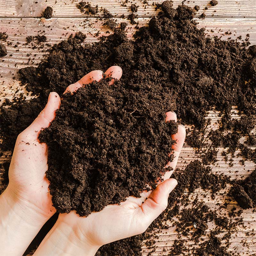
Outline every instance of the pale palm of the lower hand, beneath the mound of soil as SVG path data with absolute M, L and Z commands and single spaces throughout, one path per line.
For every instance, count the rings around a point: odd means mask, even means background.
M 142 202 L 145 202 L 150 193 L 151 191 L 143 192 L 140 198 L 129 196 L 120 205 L 107 205 L 102 211 L 92 212 L 88 217 L 78 217 L 73 211 L 60 214 L 59 218 L 60 221 L 76 222 L 79 227 L 86 227 L 83 230 L 84 236 L 90 237 L 93 244 L 108 244 L 146 230 L 150 222 L 142 222 L 138 213 L 141 211 Z

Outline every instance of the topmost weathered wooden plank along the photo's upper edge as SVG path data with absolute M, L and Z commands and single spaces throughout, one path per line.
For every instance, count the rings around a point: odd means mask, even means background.
M 46 6 L 53 8 L 54 17 L 78 17 L 83 16 L 76 8 L 76 4 L 80 0 L 65 1 L 65 0 L 1 0 L 0 1 L 0 17 L 40 17 Z M 143 4 L 143 0 L 129 1 L 126 6 L 121 6 L 124 0 L 91 0 L 89 1 L 93 6 L 99 5 L 99 13 L 102 13 L 102 8 L 106 8 L 113 15 L 128 15 L 131 4 L 139 6 L 137 14 L 140 17 L 150 16 L 156 14 L 154 3 L 161 3 L 163 0 L 154 1 L 148 0 L 148 4 Z M 181 4 L 182 0 L 174 0 L 173 6 L 177 7 Z M 194 7 L 196 4 L 201 8 L 198 14 L 203 12 L 204 7 L 209 9 L 205 11 L 207 17 L 211 17 L 214 14 L 215 17 L 233 17 L 233 18 L 255 18 L 256 17 L 256 4 L 252 0 L 220 0 L 216 6 L 211 6 L 210 0 L 195 0 L 185 1 L 185 4 Z M 214 12 L 216 11 L 216 12 Z

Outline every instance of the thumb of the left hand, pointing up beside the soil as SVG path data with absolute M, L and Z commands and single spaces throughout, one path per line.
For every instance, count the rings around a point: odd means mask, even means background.
M 60 96 L 56 92 L 51 92 L 48 97 L 45 108 L 36 117 L 34 122 L 24 130 L 23 134 L 29 134 L 30 138 L 37 139 L 38 134 L 42 128 L 48 127 L 52 120 L 55 118 L 55 111 L 60 107 Z

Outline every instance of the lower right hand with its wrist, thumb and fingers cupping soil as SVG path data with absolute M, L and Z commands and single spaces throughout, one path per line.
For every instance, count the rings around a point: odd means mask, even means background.
M 116 77 L 117 68 L 113 67 Z M 66 91 L 75 91 L 72 86 Z M 166 113 L 166 121 L 177 121 L 174 112 Z M 176 167 L 183 146 L 186 130 L 179 125 L 178 132 L 172 135 L 177 144 L 173 146 L 174 161 L 167 166 Z M 100 246 L 144 232 L 151 222 L 167 207 L 169 193 L 177 185 L 169 179 L 171 172 L 164 174 L 164 182 L 153 191 L 144 191 L 141 198 L 129 196 L 120 205 L 108 205 L 100 212 L 92 212 L 88 217 L 79 217 L 75 211 L 60 214 L 52 230 L 44 238 L 34 255 L 94 255 Z M 61 242 L 60 242 L 61 241 Z M 67 241 L 67 242 L 63 242 Z M 52 249 L 54 244 L 55 248 Z

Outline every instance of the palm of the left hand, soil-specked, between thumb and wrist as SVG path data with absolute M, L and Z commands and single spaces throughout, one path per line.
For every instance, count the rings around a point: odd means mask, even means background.
M 16 141 L 9 170 L 10 188 L 18 189 L 20 197 L 51 216 L 55 209 L 48 190 L 49 181 L 45 177 L 47 146 L 36 139 L 38 132 L 31 134 L 30 130 L 28 127 Z

